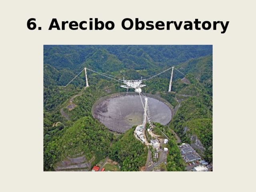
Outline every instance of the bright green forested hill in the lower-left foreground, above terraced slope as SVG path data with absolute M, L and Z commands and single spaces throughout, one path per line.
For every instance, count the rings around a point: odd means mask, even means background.
M 83 117 L 63 130 L 59 130 L 44 146 L 44 170 L 52 170 L 55 164 L 67 157 L 85 156 L 98 162 L 108 154 L 112 133 L 91 117 Z M 50 135 L 46 135 L 50 138 Z

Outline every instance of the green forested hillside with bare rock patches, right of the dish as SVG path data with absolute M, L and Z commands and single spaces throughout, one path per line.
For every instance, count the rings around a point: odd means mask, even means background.
M 194 75 L 188 74 L 186 78 L 191 84 L 184 83 L 180 86 L 181 83 L 178 83 L 181 89 L 177 92 L 191 96 L 180 103 L 180 108 L 170 122 L 170 128 L 179 135 L 182 142 L 192 144 L 200 153 L 205 152 L 204 158 L 212 162 L 212 96 L 208 95 L 208 90 Z M 189 89 L 191 86 L 195 91 Z M 202 146 L 194 145 L 196 140 L 200 140 Z

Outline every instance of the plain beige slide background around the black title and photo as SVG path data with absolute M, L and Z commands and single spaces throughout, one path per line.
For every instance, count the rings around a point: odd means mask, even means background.
M 252 191 L 255 136 L 253 1 L 1 2 L 0 189 L 4 191 Z M 218 30 L 125 31 L 124 18 L 230 21 Z M 28 30 L 36 18 L 42 30 Z M 48 31 L 52 18 L 112 20 L 114 30 Z M 43 172 L 44 44 L 212 44 L 214 172 Z

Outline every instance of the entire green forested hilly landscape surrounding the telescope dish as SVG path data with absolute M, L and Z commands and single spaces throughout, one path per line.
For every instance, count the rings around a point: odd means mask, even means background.
M 123 92 L 126 89 L 120 88 L 118 82 L 89 70 L 87 75 L 90 87 L 86 90 L 84 90 L 86 85 L 84 72 L 68 86 L 64 86 L 84 67 L 118 78 L 140 79 L 173 65 L 187 74 L 184 79 L 184 75 L 174 70 L 173 92 L 168 93 L 170 71 L 148 80 L 143 92 L 158 94 L 174 107 L 180 106 L 170 127 L 183 141 L 193 142 L 190 138 L 196 136 L 204 146 L 206 155 L 212 158 L 212 124 L 210 123 L 212 122 L 212 46 L 45 45 L 44 170 L 53 170 L 56 162 L 67 156 L 76 156 L 79 152 L 87 154 L 87 159 L 94 156 L 94 162 L 100 160 L 102 155 L 110 154 L 113 160 L 123 165 L 123 170 L 132 170 L 133 168 L 130 168 L 132 164 L 135 165 L 134 170 L 137 170 L 145 161 L 143 145 L 135 144 L 136 149 L 130 146 L 128 142 L 134 143 L 138 140 L 133 140 L 132 132 L 128 132 L 117 142 L 114 140 L 112 147 L 109 148 L 112 134 L 94 120 L 91 114 L 91 107 L 98 98 L 114 92 Z M 70 104 L 69 100 L 77 94 L 79 96 L 72 101 L 76 106 L 68 110 L 66 106 Z M 61 109 L 70 120 L 61 114 Z M 183 132 L 185 127 L 187 131 Z M 97 135 L 106 137 L 106 140 L 100 138 L 100 142 L 96 141 Z M 95 140 L 89 144 L 87 142 L 91 136 Z M 174 147 L 175 142 L 170 144 L 172 144 L 170 147 L 173 147 L 173 154 L 176 154 L 178 151 Z M 121 147 L 128 149 L 129 160 L 118 156 L 119 152 L 121 154 L 124 152 Z M 139 148 L 142 151 L 135 154 L 134 150 Z M 168 156 L 168 170 L 183 170 L 184 167 L 179 161 L 177 155 Z

